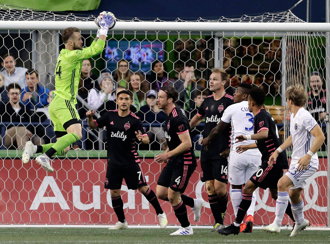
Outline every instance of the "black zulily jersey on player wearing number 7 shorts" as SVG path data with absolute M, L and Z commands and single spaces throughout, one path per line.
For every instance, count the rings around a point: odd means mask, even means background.
M 107 159 L 111 167 L 122 168 L 140 163 L 135 132 L 141 131 L 142 136 L 146 136 L 147 133 L 138 116 L 130 112 L 127 116 L 121 117 L 118 109 L 109 110 L 96 119 L 95 123 L 99 128 L 105 126 L 107 129 Z

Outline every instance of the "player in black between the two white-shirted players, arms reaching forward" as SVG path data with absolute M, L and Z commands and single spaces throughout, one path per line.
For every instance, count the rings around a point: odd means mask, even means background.
M 250 207 L 253 191 L 261 187 L 269 188 L 273 199 L 277 199 L 277 182 L 283 176 L 283 169 L 288 169 L 289 164 L 285 151 L 281 152 L 273 165 L 268 165 L 269 157 L 276 148 L 282 144 L 279 131 L 272 115 L 264 109 L 265 92 L 261 88 L 253 88 L 249 92 L 248 107 L 254 115 L 253 135 L 240 135 L 235 139 L 242 142 L 244 140 L 256 140 L 256 143 L 249 145 L 239 145 L 236 148 L 238 153 L 244 152 L 250 148 L 258 148 L 261 152 L 261 165 L 259 169 L 251 176 L 242 189 L 243 198 L 238 208 L 237 217 L 233 224 L 219 229 L 218 232 L 223 235 L 240 233 L 240 224 Z M 285 213 L 290 216 L 294 222 L 291 205 L 286 208 Z

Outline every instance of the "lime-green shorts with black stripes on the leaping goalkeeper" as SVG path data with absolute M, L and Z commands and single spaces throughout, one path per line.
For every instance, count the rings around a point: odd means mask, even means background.
M 75 104 L 55 94 L 49 104 L 49 117 L 54 124 L 56 137 L 66 134 L 70 125 L 82 124 Z

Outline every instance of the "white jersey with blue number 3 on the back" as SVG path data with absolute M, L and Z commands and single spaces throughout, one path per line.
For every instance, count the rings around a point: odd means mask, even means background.
M 231 123 L 231 151 L 236 151 L 238 145 L 248 145 L 255 143 L 255 140 L 245 140 L 235 143 L 236 136 L 253 135 L 253 113 L 249 112 L 248 101 L 237 102 L 228 106 L 221 117 L 221 121 Z M 253 148 L 243 152 L 244 154 L 258 155 L 261 153 L 258 148 Z

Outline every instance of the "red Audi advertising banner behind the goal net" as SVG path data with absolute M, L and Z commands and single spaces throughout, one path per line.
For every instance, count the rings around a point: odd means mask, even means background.
M 320 158 L 320 167 L 308 179 L 304 191 L 305 216 L 313 225 L 327 223 L 327 159 Z M 115 224 L 110 190 L 104 189 L 105 159 L 55 159 L 53 173 L 46 172 L 33 160 L 22 165 L 19 159 L 4 159 L 0 165 L 0 224 Z M 146 180 L 155 191 L 160 166 L 153 159 L 145 159 L 142 167 Z M 190 178 L 185 194 L 207 201 L 204 183 L 200 181 L 200 164 Z M 155 211 L 137 190 L 122 187 L 124 212 L 128 224 L 158 224 Z M 228 185 L 228 190 L 229 185 Z M 169 202 L 159 200 L 169 224 L 179 224 Z M 275 215 L 275 200 L 268 190 L 260 189 L 255 207 L 255 224 L 270 224 Z M 199 222 L 187 208 L 191 224 L 213 224 L 209 203 L 202 208 Z M 228 202 L 225 224 L 234 220 L 233 208 Z M 282 224 L 289 222 L 285 215 Z

